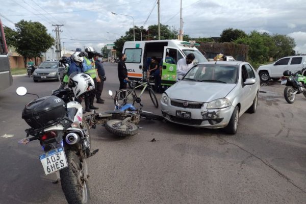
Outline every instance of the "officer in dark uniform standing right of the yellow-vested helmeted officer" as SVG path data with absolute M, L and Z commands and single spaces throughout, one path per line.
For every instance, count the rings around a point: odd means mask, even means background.
M 106 80 L 105 77 L 105 70 L 102 64 L 101 60 L 101 55 L 99 53 L 94 54 L 94 63 L 95 63 L 95 68 L 97 69 L 98 76 L 100 78 L 100 82 L 97 82 L 97 90 L 96 90 L 96 99 L 97 99 L 97 104 L 104 104 L 104 99 L 101 98 L 101 94 L 103 91 L 103 85 L 104 81 Z

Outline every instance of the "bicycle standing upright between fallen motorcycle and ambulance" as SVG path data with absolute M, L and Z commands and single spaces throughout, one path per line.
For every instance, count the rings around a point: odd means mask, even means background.
M 139 83 L 137 81 L 130 81 L 130 82 Z M 143 86 L 143 89 L 141 90 L 141 92 L 139 94 L 139 97 L 138 97 L 135 89 L 137 89 L 139 87 L 142 87 L 142 86 Z M 150 83 L 148 81 L 144 82 L 144 83 L 141 83 L 138 86 L 135 86 L 132 90 L 128 90 L 128 89 L 119 90 L 115 95 L 114 104 L 116 105 L 116 100 L 118 101 L 120 106 L 124 106 L 125 104 L 134 105 L 135 101 L 136 101 L 136 103 L 138 103 L 138 104 L 140 104 L 140 106 L 142 106 L 140 97 L 143 94 L 144 90 L 146 90 L 146 89 L 149 91 L 149 95 L 150 95 L 150 98 L 152 100 L 153 105 L 156 108 L 158 108 L 157 97 L 156 97 L 154 91 L 151 89 Z

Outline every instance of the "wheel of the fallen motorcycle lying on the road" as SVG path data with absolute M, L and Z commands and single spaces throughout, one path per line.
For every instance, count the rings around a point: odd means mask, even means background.
M 138 132 L 137 125 L 131 122 L 122 124 L 122 120 L 109 120 L 105 124 L 105 128 L 108 132 L 120 137 L 131 137 Z

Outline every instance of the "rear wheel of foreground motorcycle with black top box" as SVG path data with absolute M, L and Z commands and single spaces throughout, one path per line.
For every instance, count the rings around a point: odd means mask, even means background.
M 89 188 L 82 163 L 74 151 L 66 150 L 68 166 L 60 170 L 62 190 L 69 204 L 89 203 Z M 86 178 L 87 179 L 87 178 Z

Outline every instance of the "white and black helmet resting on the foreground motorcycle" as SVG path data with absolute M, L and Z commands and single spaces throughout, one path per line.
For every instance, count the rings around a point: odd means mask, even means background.
M 68 87 L 72 89 L 75 97 L 79 97 L 83 93 L 93 90 L 94 82 L 90 75 L 76 71 L 70 74 Z

